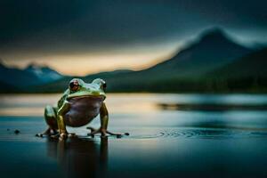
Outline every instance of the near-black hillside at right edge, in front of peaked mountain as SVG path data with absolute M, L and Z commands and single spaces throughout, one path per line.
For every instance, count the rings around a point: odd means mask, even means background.
M 206 73 L 213 91 L 267 92 L 267 47 Z

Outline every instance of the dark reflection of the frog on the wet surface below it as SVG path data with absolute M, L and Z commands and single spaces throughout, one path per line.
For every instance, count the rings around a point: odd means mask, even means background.
M 108 138 L 101 142 L 71 138 L 47 142 L 48 156 L 56 158 L 64 177 L 103 177 L 107 171 Z

